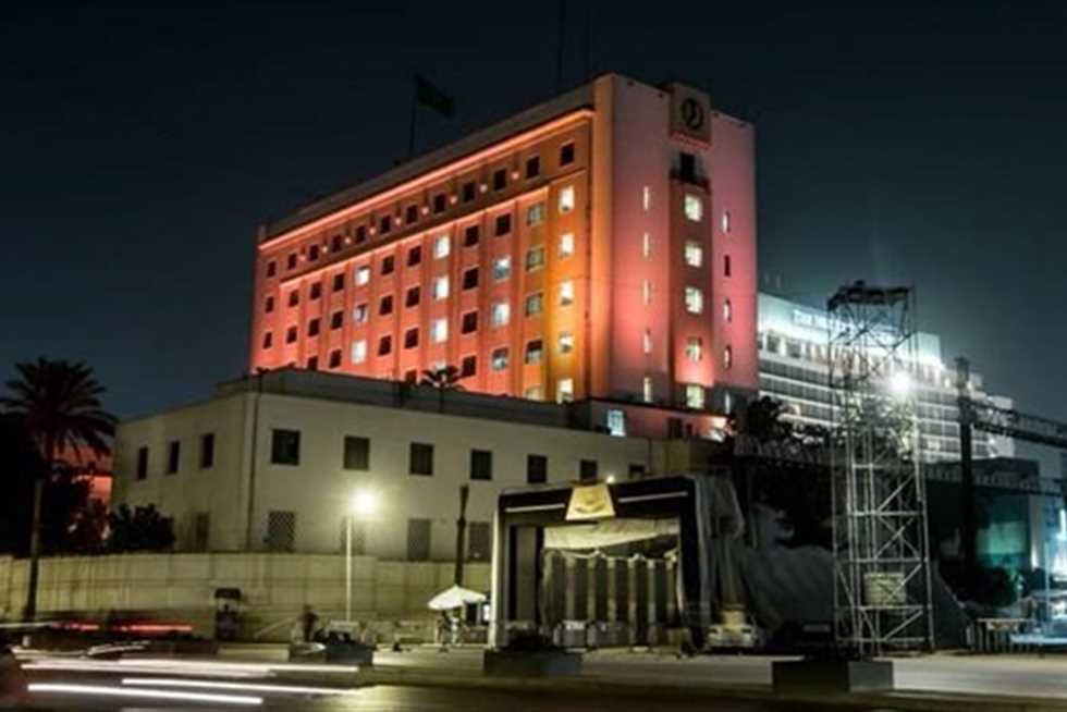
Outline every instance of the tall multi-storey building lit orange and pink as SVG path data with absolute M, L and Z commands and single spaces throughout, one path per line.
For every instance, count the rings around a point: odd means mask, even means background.
M 758 388 L 753 144 L 609 74 L 267 224 L 250 369 L 728 410 Z

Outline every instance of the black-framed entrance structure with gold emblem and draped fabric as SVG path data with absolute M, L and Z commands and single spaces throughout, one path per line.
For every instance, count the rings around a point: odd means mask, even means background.
M 564 648 L 688 635 L 702 647 L 713 602 L 732 596 L 722 576 L 728 549 L 716 541 L 738 510 L 722 484 L 694 474 L 502 493 L 490 646 L 530 635 Z

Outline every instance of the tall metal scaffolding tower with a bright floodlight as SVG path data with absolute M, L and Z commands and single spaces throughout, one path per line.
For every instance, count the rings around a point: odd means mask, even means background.
M 933 643 L 911 291 L 844 286 L 827 302 L 835 420 L 834 614 L 861 658 Z

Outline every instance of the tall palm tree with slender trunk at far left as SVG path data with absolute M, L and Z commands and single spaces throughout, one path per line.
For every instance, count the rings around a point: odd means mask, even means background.
M 29 584 L 25 619 L 37 613 L 37 573 L 40 556 L 41 500 L 45 482 L 56 472 L 59 455 L 65 450 L 88 447 L 102 456 L 111 452 L 115 418 L 103 410 L 99 396 L 105 392 L 83 363 L 48 360 L 17 364 L 20 378 L 8 381 L 10 395 L 0 406 L 21 417 L 27 433 L 45 463 L 44 477 L 34 482 L 33 525 L 29 533 Z

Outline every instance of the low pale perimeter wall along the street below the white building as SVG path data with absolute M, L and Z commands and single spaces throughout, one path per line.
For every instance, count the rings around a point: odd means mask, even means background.
M 27 562 L 0 557 L 0 619 L 19 615 L 26 597 Z M 489 590 L 489 565 L 468 564 L 464 585 Z M 427 622 L 426 602 L 452 584 L 444 563 L 353 560 L 353 617 Z M 211 635 L 217 588 L 245 597 L 246 639 L 279 640 L 304 604 L 323 618 L 344 617 L 344 557 L 302 554 L 125 554 L 41 560 L 38 610 L 103 616 L 140 612 L 152 619 L 187 621 Z M 258 634 L 258 636 L 257 636 Z

